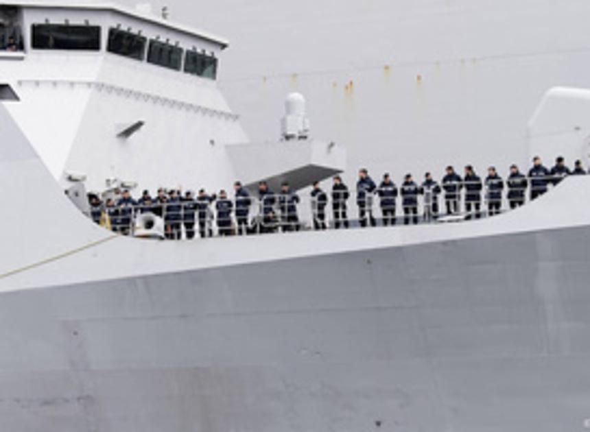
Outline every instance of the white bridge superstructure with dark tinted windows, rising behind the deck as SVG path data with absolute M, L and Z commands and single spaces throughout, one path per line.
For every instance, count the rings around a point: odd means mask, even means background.
M 54 177 L 83 173 L 98 190 L 113 178 L 148 189 L 233 181 L 224 146 L 248 139 L 215 82 L 226 40 L 113 5 L 15 8 L 23 46 L 0 51 L 0 84 L 18 97 L 6 106 Z M 83 26 L 97 46 L 57 49 Z

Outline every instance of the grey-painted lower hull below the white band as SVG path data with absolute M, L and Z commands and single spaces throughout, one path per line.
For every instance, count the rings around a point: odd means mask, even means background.
M 589 243 L 580 226 L 5 292 L 2 429 L 581 431 Z

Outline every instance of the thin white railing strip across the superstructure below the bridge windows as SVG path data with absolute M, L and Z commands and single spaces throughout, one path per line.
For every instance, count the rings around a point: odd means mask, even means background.
M 229 111 L 222 111 L 222 110 L 213 110 L 212 108 L 208 108 L 206 106 L 193 104 L 188 101 L 183 101 L 180 99 L 172 99 L 170 97 L 163 97 L 161 95 L 156 95 L 155 93 L 147 93 L 143 91 L 133 90 L 132 88 L 125 88 L 121 86 L 115 86 L 114 84 L 108 84 L 105 82 L 96 82 L 96 81 L 84 81 L 84 80 L 19 80 L 16 82 L 19 86 L 23 86 L 25 84 L 32 84 L 34 86 L 40 86 L 42 84 L 49 84 L 51 86 L 69 86 L 70 88 L 75 88 L 77 86 L 86 87 L 86 88 L 94 88 L 97 91 L 104 91 L 108 94 L 114 94 L 121 97 L 133 97 L 134 99 L 143 101 L 151 101 L 154 104 L 161 104 L 162 106 L 170 106 L 171 108 L 178 108 L 180 110 L 187 110 L 189 112 L 200 113 L 203 115 L 212 115 L 223 117 L 224 119 L 230 119 L 233 121 L 237 121 L 239 119 L 239 115 L 234 114 L 233 112 Z

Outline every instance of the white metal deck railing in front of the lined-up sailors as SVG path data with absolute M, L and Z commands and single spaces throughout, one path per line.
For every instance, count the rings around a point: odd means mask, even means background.
M 115 232 L 134 235 L 139 228 L 137 226 L 139 215 L 150 213 L 163 221 L 165 227 L 163 235 L 167 239 L 239 235 L 240 227 L 237 222 L 238 219 L 244 218 L 246 218 L 246 226 L 241 227 L 244 228 L 243 234 L 338 229 L 339 226 L 362 228 L 364 224 L 367 227 L 441 224 L 494 217 L 505 213 L 550 191 L 562 179 L 563 176 L 509 178 L 502 180 L 503 189 L 491 188 L 491 183 L 486 184 L 485 179 L 476 182 L 462 181 L 455 183 L 459 187 L 458 191 L 450 193 L 444 190 L 443 184 L 437 183 L 440 193 L 435 193 L 432 188 L 425 189 L 418 185 L 415 205 L 413 202 L 404 205 L 400 188 L 397 187 L 397 197 L 386 197 L 386 200 L 394 199 L 394 204 L 385 206 L 381 206 L 382 198 L 378 195 L 381 189 L 377 188 L 366 196 L 362 207 L 358 205 L 355 193 L 350 194 L 349 200 L 339 200 L 338 206 L 334 206 L 330 191 L 325 192 L 327 200 L 322 202 L 309 195 L 297 195 L 298 202 L 292 202 L 294 196 L 292 194 L 272 193 L 262 198 L 250 196 L 247 216 L 240 218 L 235 213 L 235 199 L 227 198 L 232 204 L 228 217 L 219 217 L 215 206 L 217 201 L 211 202 L 207 199 L 206 201 L 111 206 L 101 208 L 101 219 L 104 226 Z M 496 180 L 495 187 L 498 187 L 499 183 L 500 181 Z M 466 187 L 471 184 L 481 186 L 481 189 L 468 191 Z M 512 184 L 512 187 L 508 187 L 508 184 Z M 522 186 L 519 186 L 520 184 Z M 187 208 L 189 208 L 188 211 Z M 364 217 L 361 215 L 361 209 L 364 210 Z M 241 210 L 244 211 L 244 207 L 241 207 Z M 97 211 L 95 208 L 95 213 Z M 349 214 L 351 211 L 355 213 L 355 217 L 351 217 Z M 390 214 L 384 214 L 384 211 L 390 211 Z M 306 217 L 301 217 L 303 214 Z M 97 218 L 95 220 L 98 222 Z M 191 224 L 193 224 L 192 227 Z M 193 235 L 189 236 L 187 232 L 192 232 Z

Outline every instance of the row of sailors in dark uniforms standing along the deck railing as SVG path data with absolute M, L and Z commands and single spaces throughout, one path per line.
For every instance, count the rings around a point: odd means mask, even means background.
M 498 175 L 495 167 L 488 168 L 488 176 L 484 180 L 477 176 L 471 165 L 465 167 L 464 173 L 464 177 L 461 178 L 453 167 L 449 166 L 440 185 L 430 173 L 425 174 L 425 180 L 420 185 L 414 182 L 411 174 L 407 174 L 398 189 L 388 173 L 384 175 L 383 181 L 377 187 L 377 184 L 368 175 L 368 171 L 361 169 L 356 185 L 359 224 L 362 227 L 368 226 L 368 224 L 370 226 L 377 225 L 377 220 L 373 216 L 374 195 L 379 197 L 384 226 L 396 223 L 397 197 L 399 195 L 401 195 L 404 224 L 418 224 L 418 196 L 423 197 L 423 219 L 432 221 L 438 218 L 438 196 L 443 191 L 447 214 L 453 215 L 460 212 L 462 189 L 464 189 L 464 209 L 467 219 L 470 219 L 472 215 L 479 218 L 484 185 L 488 214 L 493 216 L 502 210 L 505 184 L 510 208 L 516 208 L 524 204 L 527 189 L 530 189 L 530 199 L 534 200 L 547 191 L 548 184 L 557 184 L 564 176 L 585 174 L 586 171 L 582 168 L 580 161 L 576 161 L 574 171 L 570 171 L 565 165 L 563 157 L 556 159 L 556 164 L 552 169 L 547 169 L 541 163 L 541 159 L 536 157 L 528 172 L 528 178 L 519 171 L 516 165 L 510 167 L 510 174 L 506 182 Z M 242 187 L 240 182 L 235 182 L 234 191 L 234 200 L 230 200 L 224 190 L 216 196 L 209 195 L 204 189 L 201 189 L 196 197 L 193 197 L 191 192 L 182 195 L 176 190 L 167 192 L 164 189 L 159 189 L 158 195 L 152 198 L 149 191 L 144 191 L 138 201 L 131 197 L 129 191 L 123 191 L 116 202 L 110 198 L 106 200 L 104 205 L 95 194 L 91 194 L 89 198 L 93 219 L 98 224 L 108 225 L 111 229 L 123 234 L 130 232 L 135 213 L 154 213 L 165 220 L 166 237 L 169 239 L 180 239 L 182 226 L 185 228 L 188 239 L 195 237 L 196 229 L 201 237 L 211 237 L 214 218 L 211 207 L 215 211 L 217 232 L 222 236 L 232 235 L 233 232 L 242 235 L 248 232 L 273 232 L 279 228 L 283 231 L 299 229 L 297 206 L 300 203 L 300 197 L 290 189 L 288 183 L 283 183 L 279 194 L 272 192 L 267 182 L 259 183 L 259 214 L 252 221 L 250 221 L 250 208 L 254 204 L 254 200 L 252 200 L 250 193 Z M 348 187 L 342 182 L 340 176 L 335 176 L 331 190 L 331 204 L 334 228 L 336 229 L 349 228 L 347 215 L 349 197 Z M 326 229 L 328 195 L 320 188 L 319 182 L 314 182 L 311 203 L 314 228 L 316 230 Z

